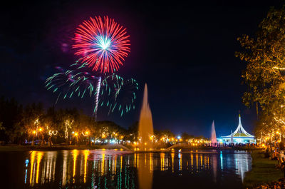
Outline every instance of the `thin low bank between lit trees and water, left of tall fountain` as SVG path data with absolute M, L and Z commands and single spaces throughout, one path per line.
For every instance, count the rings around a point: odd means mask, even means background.
M 6 151 L 31 151 L 31 150 L 96 150 L 96 149 L 123 149 L 129 151 L 130 149 L 125 145 L 53 145 L 49 146 L 31 146 L 31 145 L 0 145 L 0 152 Z

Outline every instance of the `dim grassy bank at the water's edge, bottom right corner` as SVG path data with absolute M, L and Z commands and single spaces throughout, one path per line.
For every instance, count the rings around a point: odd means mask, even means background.
M 284 178 L 283 171 L 275 168 L 276 164 L 277 160 L 264 158 L 264 154 L 261 151 L 252 152 L 252 170 L 246 173 L 244 186 L 246 188 L 254 188 L 257 185 Z

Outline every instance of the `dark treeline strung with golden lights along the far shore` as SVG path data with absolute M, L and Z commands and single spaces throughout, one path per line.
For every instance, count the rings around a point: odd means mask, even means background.
M 175 138 L 175 135 L 169 130 L 155 131 L 155 141 L 162 138 Z M 186 141 L 195 137 L 182 133 L 181 138 Z M 138 141 L 138 122 L 126 129 L 112 121 L 95 121 L 76 108 L 56 109 L 53 106 L 44 109 L 42 103 L 22 106 L 14 98 L 2 96 L 0 141 L 32 145 L 34 141 L 50 144 L 133 143 Z

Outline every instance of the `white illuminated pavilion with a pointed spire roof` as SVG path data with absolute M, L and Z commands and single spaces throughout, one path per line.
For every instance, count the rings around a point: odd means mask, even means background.
M 229 136 L 221 136 L 217 138 L 219 143 L 256 143 L 254 136 L 247 133 L 242 127 L 241 116 L 239 115 L 239 125 L 237 126 L 236 131 L 231 133 Z

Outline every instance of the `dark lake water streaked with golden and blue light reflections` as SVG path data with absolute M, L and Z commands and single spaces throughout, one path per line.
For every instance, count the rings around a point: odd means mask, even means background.
M 245 151 L 1 152 L 1 188 L 242 188 Z

